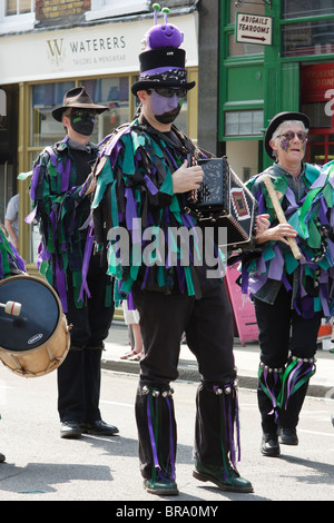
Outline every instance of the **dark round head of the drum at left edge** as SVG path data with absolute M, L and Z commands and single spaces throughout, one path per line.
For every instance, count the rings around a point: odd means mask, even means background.
M 19 316 L 10 316 L 0 307 L 0 347 L 29 351 L 43 345 L 55 332 L 60 308 L 49 286 L 29 276 L 17 276 L 0 282 L 0 303 L 18 302 Z

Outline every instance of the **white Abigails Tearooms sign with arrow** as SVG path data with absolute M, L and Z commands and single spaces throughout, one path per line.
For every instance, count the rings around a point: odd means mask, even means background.
M 236 16 L 236 41 L 271 46 L 273 40 L 273 18 L 238 12 Z

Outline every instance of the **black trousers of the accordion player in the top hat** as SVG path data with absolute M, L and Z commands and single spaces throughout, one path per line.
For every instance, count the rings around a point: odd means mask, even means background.
M 169 456 L 170 461 L 170 453 L 176 454 L 176 422 L 173 399 L 169 396 L 166 406 L 161 393 L 168 391 L 170 382 L 178 377 L 177 365 L 184 332 L 187 344 L 197 358 L 203 378 L 196 399 L 195 458 L 207 464 L 223 464 L 220 406 L 213 389 L 215 386 L 224 387 L 233 383 L 236 376 L 232 309 L 223 282 L 202 277 L 200 288 L 200 299 L 180 294 L 166 296 L 158 292 L 143 292 L 138 287 L 134 289 L 145 347 L 136 396 L 136 420 L 140 470 L 147 478 L 151 477 L 155 464 L 148 430 L 147 401 L 143 391 L 145 387 L 156 387 L 160 393 L 159 399 L 154 399 L 157 402 L 159 425 L 163 427 L 159 435 L 163 446 L 160 454 L 166 456 L 166 460 Z

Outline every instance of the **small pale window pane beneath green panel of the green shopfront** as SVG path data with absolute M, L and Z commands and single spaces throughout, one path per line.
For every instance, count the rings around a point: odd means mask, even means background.
M 262 129 L 263 110 L 225 112 L 225 136 L 258 136 Z

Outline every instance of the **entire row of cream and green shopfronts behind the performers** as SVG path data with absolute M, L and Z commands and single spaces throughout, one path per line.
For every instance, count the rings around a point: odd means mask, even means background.
M 153 24 L 150 0 L 6 0 L 0 2 L 0 219 L 17 191 L 20 253 L 32 267 L 35 231 L 28 181 L 46 146 L 63 137 L 50 111 L 85 85 L 107 105 L 98 142 L 136 110 L 130 86 Z M 198 145 L 227 155 L 242 179 L 269 164 L 263 137 L 271 118 L 302 110 L 312 122 L 307 160 L 334 158 L 333 0 L 166 0 L 185 33 L 189 91 L 178 126 Z M 159 17 L 159 22 L 163 16 Z

